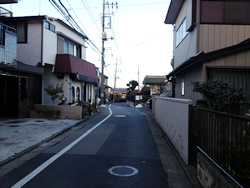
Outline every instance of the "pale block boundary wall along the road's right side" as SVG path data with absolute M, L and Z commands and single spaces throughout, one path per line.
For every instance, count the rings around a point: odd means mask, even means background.
M 153 98 L 153 114 L 186 164 L 188 164 L 189 105 L 192 100 Z

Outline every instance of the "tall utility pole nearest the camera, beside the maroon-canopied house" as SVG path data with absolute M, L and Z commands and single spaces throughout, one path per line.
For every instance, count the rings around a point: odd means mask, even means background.
M 104 92 L 103 92 L 103 85 L 104 85 L 104 41 L 105 41 L 105 31 L 104 31 L 104 18 L 105 16 L 105 0 L 103 0 L 103 13 L 102 13 L 102 76 L 101 76 L 101 104 L 104 104 Z

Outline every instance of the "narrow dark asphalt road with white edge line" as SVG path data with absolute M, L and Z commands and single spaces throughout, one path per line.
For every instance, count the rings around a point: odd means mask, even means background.
M 124 104 L 0 178 L 1 187 L 168 187 L 146 116 Z

